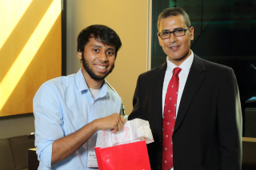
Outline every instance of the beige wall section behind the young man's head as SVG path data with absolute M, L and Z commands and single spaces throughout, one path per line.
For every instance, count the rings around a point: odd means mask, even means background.
M 106 80 L 122 97 L 126 114 L 140 73 L 147 68 L 148 0 L 67 1 L 67 73 L 76 73 L 76 38 L 80 30 L 93 24 L 109 26 L 122 41 L 113 73 Z

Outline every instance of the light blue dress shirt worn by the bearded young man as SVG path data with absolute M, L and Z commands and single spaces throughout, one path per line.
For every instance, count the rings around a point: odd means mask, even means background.
M 94 151 L 97 132 L 74 154 L 51 166 L 52 144 L 95 119 L 120 113 L 121 105 L 121 97 L 106 83 L 94 100 L 81 69 L 76 74 L 46 81 L 33 100 L 38 169 L 98 169 L 87 168 L 88 151 Z

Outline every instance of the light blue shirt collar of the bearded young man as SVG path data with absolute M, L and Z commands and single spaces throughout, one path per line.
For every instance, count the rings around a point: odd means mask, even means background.
M 75 81 L 76 81 L 76 85 L 78 87 L 79 92 L 82 92 L 83 90 L 85 90 L 86 92 L 89 91 L 89 88 L 88 88 L 88 85 L 86 83 L 85 77 L 83 77 L 83 75 L 82 75 L 82 69 L 81 68 L 78 70 L 78 73 L 76 73 L 76 75 L 75 75 Z M 105 97 L 106 94 L 108 94 L 109 97 L 111 98 L 109 90 L 112 90 L 112 89 L 107 88 L 106 82 L 104 80 L 104 83 L 102 85 L 100 93 L 98 94 L 98 97 Z

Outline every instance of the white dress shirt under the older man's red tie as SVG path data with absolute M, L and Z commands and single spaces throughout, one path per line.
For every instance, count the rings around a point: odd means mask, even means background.
M 182 64 L 179 66 L 174 65 L 174 63 L 169 61 L 168 56 L 166 57 L 167 68 L 166 68 L 165 79 L 163 81 L 163 86 L 162 86 L 162 115 L 163 115 L 163 111 L 164 111 L 164 105 L 165 105 L 165 100 L 166 100 L 166 91 L 167 91 L 167 88 L 169 85 L 169 81 L 170 81 L 171 77 L 173 76 L 174 68 L 179 67 L 182 69 L 182 71 L 178 74 L 179 85 L 178 85 L 176 117 L 178 116 L 177 114 L 178 114 L 179 103 L 181 101 L 183 89 L 186 85 L 186 79 L 190 73 L 190 67 L 191 67 L 193 59 L 194 59 L 194 53 L 192 52 L 192 50 L 190 50 L 190 51 L 191 51 L 190 56 L 188 58 L 186 58 L 186 60 L 183 61 Z M 170 170 L 174 170 L 174 168 L 171 168 Z

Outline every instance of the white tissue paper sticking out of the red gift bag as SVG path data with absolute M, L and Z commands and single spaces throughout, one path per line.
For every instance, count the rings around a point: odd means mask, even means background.
M 132 121 L 126 121 L 125 125 L 118 132 L 99 130 L 96 147 L 106 148 L 141 140 L 146 140 L 146 144 L 154 142 L 150 124 L 148 121 L 142 119 L 134 119 Z

